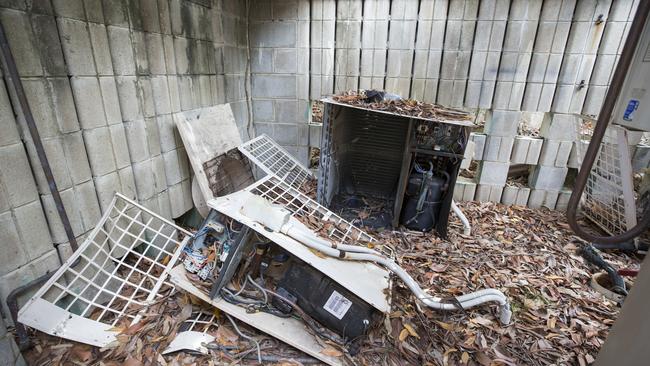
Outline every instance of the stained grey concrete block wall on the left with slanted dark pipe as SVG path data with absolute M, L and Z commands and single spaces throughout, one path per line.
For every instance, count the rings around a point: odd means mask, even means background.
M 245 133 L 239 1 L 0 1 L 4 26 L 79 243 L 114 192 L 168 218 L 192 207 L 175 112 L 229 102 Z M 69 245 L 8 80 L 0 83 L 0 299 Z M 7 316 L 6 308 L 3 315 Z

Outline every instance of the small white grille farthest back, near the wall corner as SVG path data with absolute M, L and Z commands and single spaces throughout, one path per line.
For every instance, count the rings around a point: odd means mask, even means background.
M 267 135 L 260 135 L 239 146 L 239 150 L 266 174 L 272 174 L 294 188 L 300 188 L 312 172 Z

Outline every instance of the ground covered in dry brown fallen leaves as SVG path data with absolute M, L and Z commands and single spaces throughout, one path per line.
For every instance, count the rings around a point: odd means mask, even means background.
M 490 306 L 447 313 L 420 308 L 396 280 L 389 318 L 370 333 L 359 355 L 349 359 L 341 354 L 342 360 L 362 365 L 593 362 L 618 308 L 589 287 L 594 269 L 577 254 L 583 242 L 572 234 L 564 215 L 492 203 L 460 206 L 472 223 L 472 235 L 460 234 L 462 226 L 453 215 L 449 240 L 403 231 L 372 234 L 396 249 L 401 265 L 432 295 L 452 297 L 486 287 L 502 290 L 512 304 L 512 324 L 499 324 Z M 619 268 L 639 264 L 624 254 L 604 257 Z M 222 347 L 209 356 L 162 356 L 196 305 L 183 293 L 170 293 L 148 310 L 142 323 L 122 326 L 119 342 L 111 349 L 33 334 L 35 347 L 26 356 L 34 365 L 257 363 L 256 350 L 227 319 L 219 319 L 215 332 Z M 273 356 L 269 359 L 274 361 L 266 363 L 309 363 L 286 345 L 252 328 L 240 328 L 260 341 L 263 354 Z

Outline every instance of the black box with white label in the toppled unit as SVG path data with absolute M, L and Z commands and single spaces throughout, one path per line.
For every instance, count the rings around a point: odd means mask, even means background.
M 346 341 L 364 335 L 381 318 L 370 304 L 296 258 L 278 287 L 295 296 L 298 306 L 309 316 Z

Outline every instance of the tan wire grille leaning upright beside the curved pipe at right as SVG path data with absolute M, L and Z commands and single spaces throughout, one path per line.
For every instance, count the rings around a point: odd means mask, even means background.
M 588 136 L 589 132 L 583 138 Z M 625 128 L 611 126 L 607 129 L 583 194 L 582 212 L 585 217 L 611 235 L 623 233 L 636 225 L 632 166 L 627 145 Z M 577 146 L 584 148 L 586 145 Z

